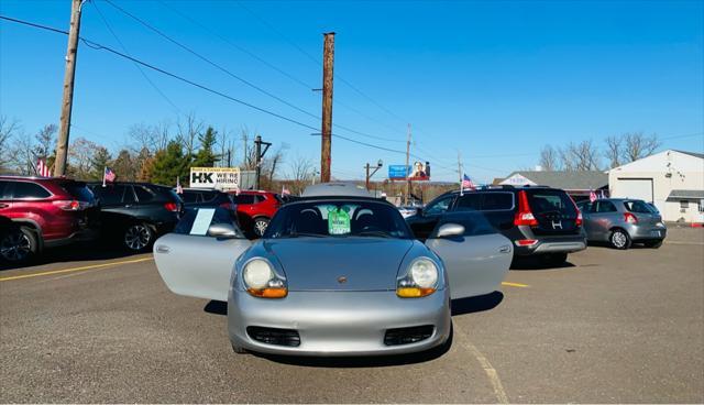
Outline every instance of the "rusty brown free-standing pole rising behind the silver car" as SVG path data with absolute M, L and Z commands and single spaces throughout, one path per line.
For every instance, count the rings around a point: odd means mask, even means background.
M 334 32 L 324 35 L 322 46 L 322 128 L 320 145 L 320 183 L 330 182 L 332 144 L 332 67 L 334 65 Z

